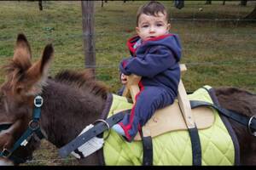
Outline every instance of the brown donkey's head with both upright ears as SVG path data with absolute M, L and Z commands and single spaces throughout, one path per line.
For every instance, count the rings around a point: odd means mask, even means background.
M 51 44 L 44 48 L 43 56 L 32 64 L 32 53 L 29 43 L 23 34 L 19 34 L 15 53 L 9 65 L 5 65 L 5 82 L 0 87 L 0 125 L 9 124 L 7 129 L 0 129 L 0 151 L 10 150 L 20 135 L 25 132 L 32 119 L 34 96 L 42 92 L 48 76 L 49 63 L 54 49 Z M 35 136 L 35 135 L 34 135 Z M 31 140 L 35 140 L 36 137 Z M 26 159 L 32 156 L 35 142 L 20 147 L 13 155 Z M 8 156 L 0 156 L 0 165 L 9 164 Z

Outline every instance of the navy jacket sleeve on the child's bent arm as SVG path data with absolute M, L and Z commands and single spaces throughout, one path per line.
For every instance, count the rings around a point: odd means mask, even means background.
M 119 69 L 125 75 L 131 73 L 142 77 L 152 78 L 177 63 L 172 51 L 164 46 L 151 48 L 148 54 L 137 54 L 137 57 L 124 59 L 119 65 Z

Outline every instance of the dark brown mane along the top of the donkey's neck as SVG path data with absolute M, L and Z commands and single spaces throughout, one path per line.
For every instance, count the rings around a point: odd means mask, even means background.
M 86 89 L 96 96 L 107 99 L 108 87 L 103 82 L 97 81 L 90 69 L 85 71 L 61 71 L 55 75 L 54 79 L 55 82 L 65 83 L 73 88 Z

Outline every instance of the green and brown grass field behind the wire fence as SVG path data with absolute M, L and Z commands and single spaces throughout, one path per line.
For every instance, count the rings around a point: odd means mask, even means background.
M 95 2 L 96 77 L 106 82 L 111 92 L 120 86 L 119 61 L 129 56 L 125 43 L 135 34 L 137 8 L 143 3 L 108 1 L 102 8 L 101 1 Z M 182 63 L 188 71 L 182 78 L 188 92 L 207 84 L 256 93 L 256 21 L 241 20 L 253 10 L 255 2 L 241 7 L 239 2 L 227 1 L 223 6 L 221 1 L 212 5 L 186 1 L 183 9 L 174 8 L 172 1 L 163 3 L 170 11 L 172 32 L 179 35 L 183 45 Z M 49 1 L 43 5 L 44 10 L 39 11 L 37 1 L 0 2 L 0 66 L 12 57 L 15 38 L 24 32 L 34 60 L 47 43 L 54 44 L 52 76 L 62 69 L 84 69 L 81 3 Z M 35 153 L 35 160 L 40 161 L 28 165 L 76 163 L 73 159 L 52 161 L 57 156 L 54 146 L 44 142 L 42 148 Z

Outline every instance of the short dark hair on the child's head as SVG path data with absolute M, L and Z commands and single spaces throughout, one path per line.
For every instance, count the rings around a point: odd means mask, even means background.
M 166 20 L 167 21 L 169 20 L 166 7 L 162 3 L 151 1 L 149 3 L 144 4 L 137 10 L 137 25 L 138 25 L 138 20 L 141 14 L 158 16 L 159 13 L 166 14 Z

